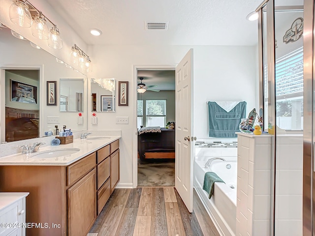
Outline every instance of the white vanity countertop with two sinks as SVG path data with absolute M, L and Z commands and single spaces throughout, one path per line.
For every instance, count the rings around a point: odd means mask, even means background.
M 121 136 L 108 136 L 106 139 L 89 139 L 93 138 L 93 136 L 88 136 L 88 139 L 74 139 L 73 143 L 66 145 L 58 145 L 58 146 L 46 146 L 39 148 L 38 152 L 31 153 L 29 157 L 25 154 L 14 154 L 9 156 L 4 156 L 0 158 L 0 165 L 31 165 L 31 166 L 67 166 L 71 163 L 80 160 L 81 158 L 89 155 L 90 153 L 98 150 L 99 148 L 105 147 L 106 145 L 118 140 Z M 33 158 L 34 154 L 38 154 L 39 152 L 61 149 L 61 148 L 79 148 L 78 152 L 75 152 L 71 155 L 59 156 L 59 157 L 51 157 L 51 158 Z

